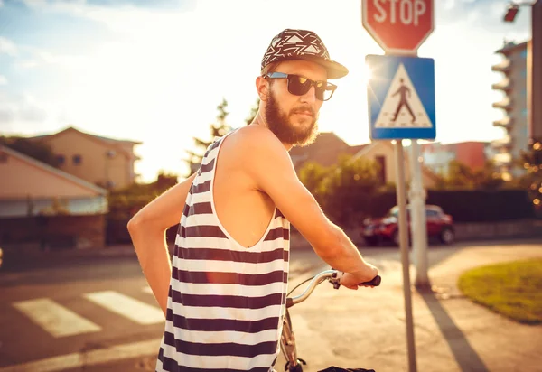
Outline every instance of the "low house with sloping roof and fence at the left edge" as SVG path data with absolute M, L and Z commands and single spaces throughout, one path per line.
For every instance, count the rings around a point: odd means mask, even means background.
M 105 245 L 107 190 L 0 145 L 0 245 Z

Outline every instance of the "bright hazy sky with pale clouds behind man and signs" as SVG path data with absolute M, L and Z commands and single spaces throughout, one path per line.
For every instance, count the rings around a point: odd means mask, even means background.
M 435 59 L 436 141 L 491 141 L 504 40 L 529 38 L 530 12 L 503 23 L 508 0 L 435 0 L 435 31 L 418 56 Z M 361 24 L 360 0 L 0 0 L 0 134 L 68 126 L 141 141 L 135 172 L 185 175 L 192 137 L 209 139 L 217 106 L 245 125 L 266 48 L 285 28 L 312 30 L 350 73 L 319 126 L 367 144 L 367 54 L 383 54 Z

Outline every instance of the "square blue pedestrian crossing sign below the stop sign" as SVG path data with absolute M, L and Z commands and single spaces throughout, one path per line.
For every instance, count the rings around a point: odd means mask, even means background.
M 435 139 L 435 60 L 368 55 L 371 139 Z

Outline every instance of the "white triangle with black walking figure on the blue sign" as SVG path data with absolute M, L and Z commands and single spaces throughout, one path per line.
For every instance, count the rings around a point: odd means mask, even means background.
M 430 128 L 433 124 L 401 63 L 392 79 L 375 127 Z

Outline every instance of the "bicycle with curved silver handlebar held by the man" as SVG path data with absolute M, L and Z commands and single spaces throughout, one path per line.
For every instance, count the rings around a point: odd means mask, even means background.
M 311 278 L 308 278 L 304 280 L 304 282 L 297 284 L 294 289 L 290 291 L 286 295 L 286 310 L 285 310 L 285 318 L 283 321 L 283 330 L 282 335 L 280 339 L 280 349 L 283 352 L 283 355 L 286 359 L 285 364 L 285 371 L 287 372 L 303 372 L 303 366 L 305 366 L 307 363 L 302 358 L 297 358 L 297 349 L 295 347 L 295 336 L 294 336 L 294 329 L 292 327 L 292 320 L 290 318 L 290 312 L 288 312 L 288 309 L 294 306 L 294 304 L 297 304 L 299 302 L 304 302 L 310 295 L 313 293 L 316 286 L 319 284 L 322 284 L 326 280 L 329 281 L 331 284 L 333 284 L 334 289 L 339 289 L 341 286 L 341 276 L 342 273 L 337 270 L 324 270 L 321 273 L 318 273 L 314 275 Z M 374 285 L 378 286 L 380 285 L 382 278 L 377 275 L 375 276 L 371 281 L 361 283 L 360 285 Z M 304 293 L 301 293 L 294 297 L 289 297 L 290 294 L 292 294 L 299 286 L 305 284 L 306 282 L 311 281 L 310 284 L 308 284 L 304 290 Z M 329 367 L 325 369 L 325 371 L 372 371 L 372 369 L 343 369 L 338 367 Z M 373 371 L 374 372 L 374 371 Z

